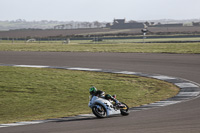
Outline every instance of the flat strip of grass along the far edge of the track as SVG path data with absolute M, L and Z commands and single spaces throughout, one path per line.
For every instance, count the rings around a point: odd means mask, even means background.
M 83 41 L 84 42 L 84 41 Z M 0 43 L 0 51 L 200 53 L 200 43 Z

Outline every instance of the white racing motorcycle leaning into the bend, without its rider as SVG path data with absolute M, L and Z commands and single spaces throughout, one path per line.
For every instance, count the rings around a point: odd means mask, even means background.
M 88 106 L 92 109 L 93 114 L 98 118 L 105 118 L 117 114 L 123 116 L 129 115 L 129 107 L 122 102 L 119 104 L 115 105 L 112 100 L 93 96 L 92 98 L 90 97 Z

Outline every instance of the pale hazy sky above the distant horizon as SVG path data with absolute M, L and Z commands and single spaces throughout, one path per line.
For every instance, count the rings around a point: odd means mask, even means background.
M 200 0 L 0 0 L 0 20 L 200 19 Z

